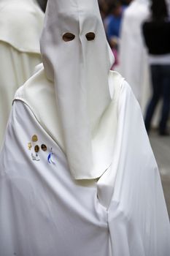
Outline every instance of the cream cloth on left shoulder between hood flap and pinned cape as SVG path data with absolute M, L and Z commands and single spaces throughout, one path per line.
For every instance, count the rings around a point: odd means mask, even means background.
M 42 67 L 36 68 L 36 73 L 18 89 L 14 101 L 19 100 L 26 104 L 41 127 L 63 148 L 55 86 L 47 79 L 43 65 L 40 66 Z

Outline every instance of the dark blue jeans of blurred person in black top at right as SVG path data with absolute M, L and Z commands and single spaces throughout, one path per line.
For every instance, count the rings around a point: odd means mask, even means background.
M 147 132 L 150 131 L 150 124 L 158 101 L 163 98 L 163 107 L 159 123 L 159 132 L 164 134 L 167 132 L 167 121 L 170 109 L 170 64 L 167 65 L 151 65 L 152 76 L 152 98 L 147 106 L 145 117 L 145 127 Z

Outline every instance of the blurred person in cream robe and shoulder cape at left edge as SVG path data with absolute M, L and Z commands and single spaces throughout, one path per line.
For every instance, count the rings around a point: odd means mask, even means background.
M 0 1 L 0 148 L 15 91 L 41 62 L 43 19 L 34 0 Z

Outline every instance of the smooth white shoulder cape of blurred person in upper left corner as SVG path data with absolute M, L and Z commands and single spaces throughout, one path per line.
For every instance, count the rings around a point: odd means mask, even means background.
M 35 0 L 0 0 L 0 41 L 28 53 L 39 53 L 44 13 Z

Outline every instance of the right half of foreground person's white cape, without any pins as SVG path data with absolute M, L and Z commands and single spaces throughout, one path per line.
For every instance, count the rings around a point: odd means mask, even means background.
M 161 178 L 142 113 L 124 83 L 112 171 L 117 170 L 109 205 L 112 255 L 170 255 L 170 226 Z M 111 184 L 112 172 L 108 181 Z

